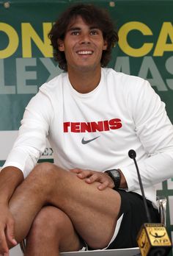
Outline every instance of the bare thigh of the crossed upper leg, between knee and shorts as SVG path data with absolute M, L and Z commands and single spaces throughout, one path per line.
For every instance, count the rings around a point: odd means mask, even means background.
M 102 249 L 114 234 L 121 199 L 117 191 L 100 191 L 97 185 L 98 182 L 88 184 L 76 174 L 63 171 L 52 203 L 67 213 L 89 246 Z

